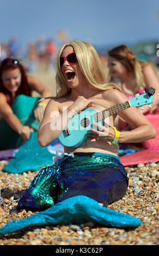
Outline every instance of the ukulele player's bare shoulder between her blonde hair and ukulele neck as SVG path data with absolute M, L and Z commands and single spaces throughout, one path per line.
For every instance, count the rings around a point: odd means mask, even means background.
M 115 105 L 129 100 L 126 95 L 121 93 L 118 89 L 108 89 L 102 93 L 102 98 L 109 101 L 110 105 Z

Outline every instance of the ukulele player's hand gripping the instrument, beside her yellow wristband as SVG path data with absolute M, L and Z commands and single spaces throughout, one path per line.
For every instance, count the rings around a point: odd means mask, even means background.
M 109 142 L 112 142 L 114 140 L 115 131 L 113 127 L 111 126 L 105 127 L 97 123 L 93 123 L 93 126 L 95 126 L 96 129 L 98 130 L 90 128 L 89 131 L 93 133 L 90 133 L 88 135 L 89 137 L 97 138 L 97 139 L 105 139 L 105 141 L 109 141 Z

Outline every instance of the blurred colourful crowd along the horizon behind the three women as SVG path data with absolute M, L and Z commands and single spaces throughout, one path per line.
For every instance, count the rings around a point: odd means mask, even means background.
M 56 70 L 58 50 L 66 41 L 70 41 L 68 35 L 63 31 L 60 31 L 57 37 L 60 44 L 57 44 L 56 40 L 46 39 L 44 35 L 39 35 L 37 40 L 30 40 L 28 42 L 25 51 L 22 50 L 21 44 L 16 36 L 11 36 L 8 42 L 0 41 L 0 63 L 7 57 L 14 57 L 20 60 L 28 72 L 35 73 L 39 71 Z M 137 42 L 131 47 L 139 60 L 148 61 L 156 67 L 159 67 L 159 57 L 156 54 L 157 50 L 159 51 L 158 43 L 159 41 L 143 41 Z M 102 48 L 96 48 L 96 50 L 99 53 L 102 63 L 107 67 L 108 47 L 103 46 Z

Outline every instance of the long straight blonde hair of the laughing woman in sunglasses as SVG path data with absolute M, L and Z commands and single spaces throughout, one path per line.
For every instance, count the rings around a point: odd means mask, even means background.
M 101 90 L 116 88 L 121 92 L 121 89 L 117 84 L 106 82 L 105 72 L 95 48 L 88 42 L 72 40 L 65 44 L 58 53 L 56 74 L 57 97 L 66 96 L 71 92 L 71 89 L 66 83 L 62 69 L 60 68 L 59 61 L 64 48 L 68 46 L 72 46 L 74 48 L 79 68 L 90 86 Z

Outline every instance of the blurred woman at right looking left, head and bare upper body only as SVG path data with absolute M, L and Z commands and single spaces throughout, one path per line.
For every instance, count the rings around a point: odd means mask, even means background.
M 153 66 L 137 59 L 127 45 L 119 45 L 108 51 L 109 81 L 118 81 L 124 94 L 132 99 L 135 94 L 155 88 L 152 109 L 144 106 L 142 113 L 154 111 L 159 103 L 159 81 Z

